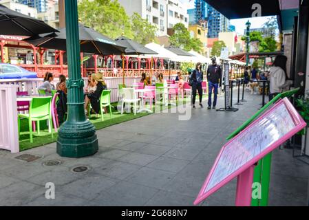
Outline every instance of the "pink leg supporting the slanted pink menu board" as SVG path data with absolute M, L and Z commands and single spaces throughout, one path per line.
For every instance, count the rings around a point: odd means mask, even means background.
M 235 206 L 251 206 L 254 168 L 251 166 L 238 175 Z

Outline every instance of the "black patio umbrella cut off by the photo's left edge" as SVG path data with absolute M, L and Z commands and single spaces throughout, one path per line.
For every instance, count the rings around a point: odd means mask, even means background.
M 43 21 L 0 5 L 0 34 L 34 36 L 50 32 L 58 32 L 58 30 Z

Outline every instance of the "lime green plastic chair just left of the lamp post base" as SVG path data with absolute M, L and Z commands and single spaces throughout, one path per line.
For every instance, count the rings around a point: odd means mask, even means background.
M 38 134 L 40 134 L 40 121 L 48 120 L 50 132 L 52 133 L 52 137 L 54 137 L 54 133 L 52 131 L 52 112 L 50 107 L 51 102 L 52 96 L 32 98 L 32 101 L 30 102 L 29 113 L 18 115 L 19 133 L 21 130 L 21 118 L 27 118 L 29 121 L 28 124 L 31 143 L 33 143 L 32 122 L 38 122 Z

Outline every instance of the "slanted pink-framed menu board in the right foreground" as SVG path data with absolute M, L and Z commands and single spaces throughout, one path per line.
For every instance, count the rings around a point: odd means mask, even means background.
M 306 123 L 288 98 L 277 102 L 222 147 L 194 204 L 197 205 L 233 178 L 246 173 L 246 170 L 253 167 L 259 159 L 305 126 Z M 237 190 L 242 188 L 237 186 Z M 251 187 L 248 192 L 251 192 Z

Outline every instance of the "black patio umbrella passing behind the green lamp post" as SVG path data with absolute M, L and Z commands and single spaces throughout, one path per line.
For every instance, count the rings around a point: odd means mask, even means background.
M 125 52 L 125 46 L 109 39 L 92 28 L 87 28 L 81 23 L 78 24 L 79 41 L 81 43 L 81 52 L 99 55 L 120 55 Z M 59 33 L 41 34 L 33 36 L 24 41 L 35 45 L 54 50 L 67 50 L 65 28 L 59 30 Z

